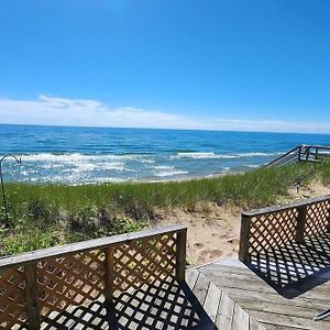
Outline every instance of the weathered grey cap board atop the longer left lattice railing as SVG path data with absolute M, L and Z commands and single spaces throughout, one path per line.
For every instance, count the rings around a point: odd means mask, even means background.
M 82 241 L 78 243 L 47 248 L 43 250 L 21 253 L 13 256 L 6 256 L 0 258 L 0 267 L 21 265 L 30 262 L 38 262 L 47 257 L 61 257 L 64 254 L 78 253 L 86 250 L 103 249 L 108 245 L 125 243 L 132 240 L 151 238 L 158 234 L 166 234 L 173 232 L 180 232 L 187 230 L 184 224 L 176 224 L 170 227 L 164 227 L 161 229 L 150 229 L 139 232 L 130 232 L 120 235 L 107 237 L 101 239 L 95 239 L 89 241 Z

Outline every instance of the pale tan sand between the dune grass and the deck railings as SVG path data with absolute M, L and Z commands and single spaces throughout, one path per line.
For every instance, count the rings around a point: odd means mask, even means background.
M 296 187 L 290 187 L 288 196 L 279 200 L 278 204 L 329 194 L 330 187 L 314 182 L 309 186 L 301 186 L 298 194 Z M 240 207 L 233 205 L 216 204 L 193 210 L 158 210 L 157 223 L 153 223 L 151 227 L 186 224 L 188 228 L 188 262 L 200 265 L 238 254 L 241 211 Z

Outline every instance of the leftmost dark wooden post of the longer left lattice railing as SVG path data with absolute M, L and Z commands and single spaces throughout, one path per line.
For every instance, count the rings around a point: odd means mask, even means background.
M 25 265 L 25 279 L 26 279 L 26 311 L 28 311 L 29 330 L 38 330 L 41 327 L 41 320 L 40 320 L 36 263 L 29 263 Z

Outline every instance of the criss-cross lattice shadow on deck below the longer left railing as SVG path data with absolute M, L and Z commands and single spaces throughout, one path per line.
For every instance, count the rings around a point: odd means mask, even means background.
M 43 320 L 43 329 L 218 329 L 189 288 L 177 282 L 123 293 Z

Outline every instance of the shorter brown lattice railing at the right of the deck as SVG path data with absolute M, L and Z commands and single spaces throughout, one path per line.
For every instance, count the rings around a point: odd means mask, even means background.
M 240 260 L 330 232 L 330 196 L 242 212 Z

